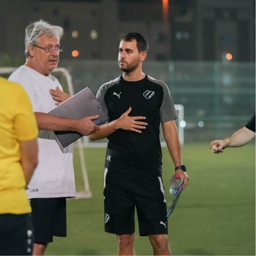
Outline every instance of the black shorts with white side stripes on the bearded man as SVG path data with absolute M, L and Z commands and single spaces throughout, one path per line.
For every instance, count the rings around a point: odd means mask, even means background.
M 166 199 L 161 177 L 134 176 L 105 170 L 105 231 L 135 232 L 136 206 L 140 236 L 168 234 Z

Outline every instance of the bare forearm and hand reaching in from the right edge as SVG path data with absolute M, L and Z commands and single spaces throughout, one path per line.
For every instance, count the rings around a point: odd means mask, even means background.
M 213 149 L 215 154 L 222 153 L 225 148 L 241 147 L 255 138 L 255 132 L 243 127 L 230 137 L 224 140 L 214 140 L 210 143 L 209 149 Z

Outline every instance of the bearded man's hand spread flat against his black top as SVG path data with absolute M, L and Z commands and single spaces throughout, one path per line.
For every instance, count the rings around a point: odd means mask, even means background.
M 117 128 L 122 130 L 129 130 L 133 132 L 142 133 L 141 130 L 138 129 L 146 129 L 146 126 L 148 123 L 141 122 L 137 120 L 143 120 L 146 119 L 145 116 L 128 116 L 130 112 L 132 111 L 132 108 L 130 107 L 120 118 L 116 120 Z

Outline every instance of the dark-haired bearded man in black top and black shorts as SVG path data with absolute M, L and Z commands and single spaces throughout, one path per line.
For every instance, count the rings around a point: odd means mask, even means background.
M 135 255 L 135 206 L 140 236 L 149 237 L 154 255 L 171 254 L 160 122 L 176 172 L 184 187 L 188 182 L 174 123 L 178 116 L 168 87 L 142 72 L 147 50 L 148 42 L 141 34 L 122 36 L 118 64 L 123 74 L 103 84 L 96 95 L 110 120 L 90 136 L 91 140 L 109 140 L 104 174 L 105 231 L 117 235 L 119 255 Z

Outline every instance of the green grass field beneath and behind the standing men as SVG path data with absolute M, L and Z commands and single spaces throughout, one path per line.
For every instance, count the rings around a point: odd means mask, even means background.
M 85 149 L 92 198 L 67 202 L 68 237 L 54 238 L 46 255 L 116 255 L 116 238 L 104 232 L 103 174 L 105 149 Z M 168 219 L 174 255 L 255 255 L 255 142 L 213 154 L 208 144 L 182 148 L 189 184 Z M 77 190 L 83 189 L 77 151 Z M 163 180 L 167 206 L 174 166 L 163 148 Z M 136 224 L 136 255 L 153 255 Z

